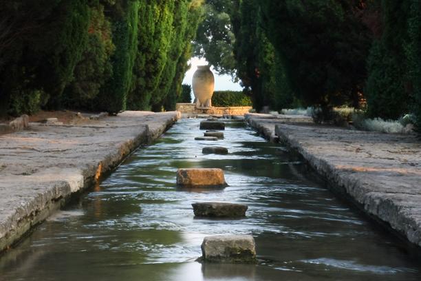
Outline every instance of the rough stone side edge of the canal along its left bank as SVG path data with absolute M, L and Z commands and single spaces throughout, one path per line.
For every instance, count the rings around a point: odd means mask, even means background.
M 0 221 L 0 257 L 4 251 L 18 244 L 31 231 L 64 207 L 70 198 L 82 194 L 83 191 L 100 182 L 102 174 L 115 169 L 140 145 L 149 145 L 159 138 L 167 129 L 181 118 L 180 112 L 164 112 L 159 121 L 139 124 L 134 136 L 127 136 L 118 146 L 106 147 L 108 153 L 96 165 L 80 165 L 64 174 L 46 189 L 34 192 L 30 200 L 22 200 L 14 210 L 6 210 L 12 214 L 1 217 Z

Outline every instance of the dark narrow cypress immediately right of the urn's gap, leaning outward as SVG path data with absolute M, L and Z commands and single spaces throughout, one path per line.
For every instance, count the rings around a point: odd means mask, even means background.
M 279 52 L 259 22 L 259 2 L 243 0 L 239 12 L 239 28 L 235 29 L 235 59 L 242 85 L 250 90 L 257 110 L 288 107 L 293 101 L 290 83 Z

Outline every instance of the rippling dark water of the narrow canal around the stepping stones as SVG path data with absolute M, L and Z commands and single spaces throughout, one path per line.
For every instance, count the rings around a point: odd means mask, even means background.
M 202 131 L 203 132 L 203 131 Z M 224 140 L 184 119 L 136 150 L 95 191 L 0 258 L 0 280 L 421 280 L 421 260 L 309 179 L 305 165 L 246 125 Z M 222 145 L 230 154 L 203 155 Z M 175 187 L 177 168 L 224 169 L 222 190 Z M 241 220 L 197 219 L 191 203 L 240 202 Z M 259 264 L 200 264 L 212 234 L 252 234 Z

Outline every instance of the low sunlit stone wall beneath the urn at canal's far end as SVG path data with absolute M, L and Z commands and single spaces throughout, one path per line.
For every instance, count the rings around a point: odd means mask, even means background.
M 212 115 L 244 115 L 248 113 L 251 106 L 230 106 L 230 107 L 210 107 L 198 110 L 194 103 L 177 103 L 176 110 L 184 114 L 212 114 Z

